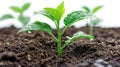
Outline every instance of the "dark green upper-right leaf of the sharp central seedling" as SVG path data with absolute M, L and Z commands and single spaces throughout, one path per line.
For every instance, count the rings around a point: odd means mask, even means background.
M 71 26 L 73 23 L 83 20 L 88 15 L 85 11 L 74 11 L 64 18 L 65 26 Z

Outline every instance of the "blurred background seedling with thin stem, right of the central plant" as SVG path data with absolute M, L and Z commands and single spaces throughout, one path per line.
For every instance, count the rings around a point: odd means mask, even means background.
M 89 7 L 83 6 L 82 8 L 89 13 L 87 19 L 89 19 L 88 26 L 89 26 L 89 34 L 93 35 L 93 27 L 98 25 L 101 22 L 101 19 L 96 17 L 94 14 L 98 12 L 103 6 L 96 6 L 93 10 L 90 10 Z

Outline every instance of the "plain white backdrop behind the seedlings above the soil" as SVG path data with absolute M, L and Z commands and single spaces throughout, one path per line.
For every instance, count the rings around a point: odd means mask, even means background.
M 29 10 L 25 12 L 25 15 L 31 17 L 30 23 L 36 20 L 44 21 L 55 28 L 54 23 L 42 15 L 34 15 L 33 12 L 42 10 L 44 7 L 56 7 L 63 0 L 0 0 L 0 16 L 10 13 L 15 16 L 15 19 L 6 21 L 0 21 L 0 28 L 15 25 L 21 27 L 21 24 L 17 21 L 17 13 L 10 10 L 10 6 L 21 7 L 24 3 L 30 2 L 31 6 Z M 98 26 L 101 27 L 120 27 L 120 2 L 119 0 L 64 0 L 65 14 L 64 17 L 75 10 L 81 10 L 81 7 L 86 5 L 91 9 L 97 5 L 103 5 L 104 7 L 98 11 L 95 15 L 103 20 Z M 84 26 L 85 21 L 75 23 L 76 27 Z M 61 20 L 61 27 L 63 27 L 63 18 Z

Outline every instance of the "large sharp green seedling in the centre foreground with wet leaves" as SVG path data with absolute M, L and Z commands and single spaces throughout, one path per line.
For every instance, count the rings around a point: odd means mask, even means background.
M 41 21 L 36 21 L 32 24 L 25 25 L 18 33 L 24 32 L 24 31 L 32 31 L 32 30 L 40 30 L 40 31 L 47 32 L 57 42 L 57 52 L 58 52 L 59 57 L 62 56 L 63 49 L 66 46 L 70 45 L 70 43 L 73 42 L 74 40 L 77 40 L 79 38 L 88 38 L 88 39 L 92 40 L 94 38 L 91 35 L 87 35 L 84 32 L 79 31 L 76 34 L 74 34 L 72 37 L 67 36 L 68 40 L 65 41 L 65 44 L 61 45 L 61 37 L 64 34 L 65 30 L 68 29 L 73 23 L 83 20 L 88 15 L 84 11 L 74 11 L 74 12 L 68 14 L 64 18 L 65 27 L 63 30 L 61 30 L 60 29 L 60 20 L 61 20 L 62 16 L 64 15 L 64 12 L 65 12 L 64 2 L 62 2 L 57 8 L 49 8 L 48 7 L 48 8 L 44 8 L 44 10 L 41 10 L 39 12 L 35 12 L 35 14 L 42 14 L 42 15 L 48 17 L 55 23 L 55 26 L 57 29 L 57 34 L 58 34 L 57 37 L 55 37 L 54 34 L 52 33 L 52 28 L 50 27 L 50 25 L 48 25 L 47 23 L 41 22 Z

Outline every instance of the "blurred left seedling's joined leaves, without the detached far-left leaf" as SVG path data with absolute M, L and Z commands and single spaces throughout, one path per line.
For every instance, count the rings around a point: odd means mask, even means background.
M 21 8 L 17 6 L 11 6 L 11 10 L 16 13 L 19 13 L 18 20 L 24 26 L 30 21 L 30 17 L 24 16 L 24 12 L 30 7 L 30 3 L 25 3 Z

